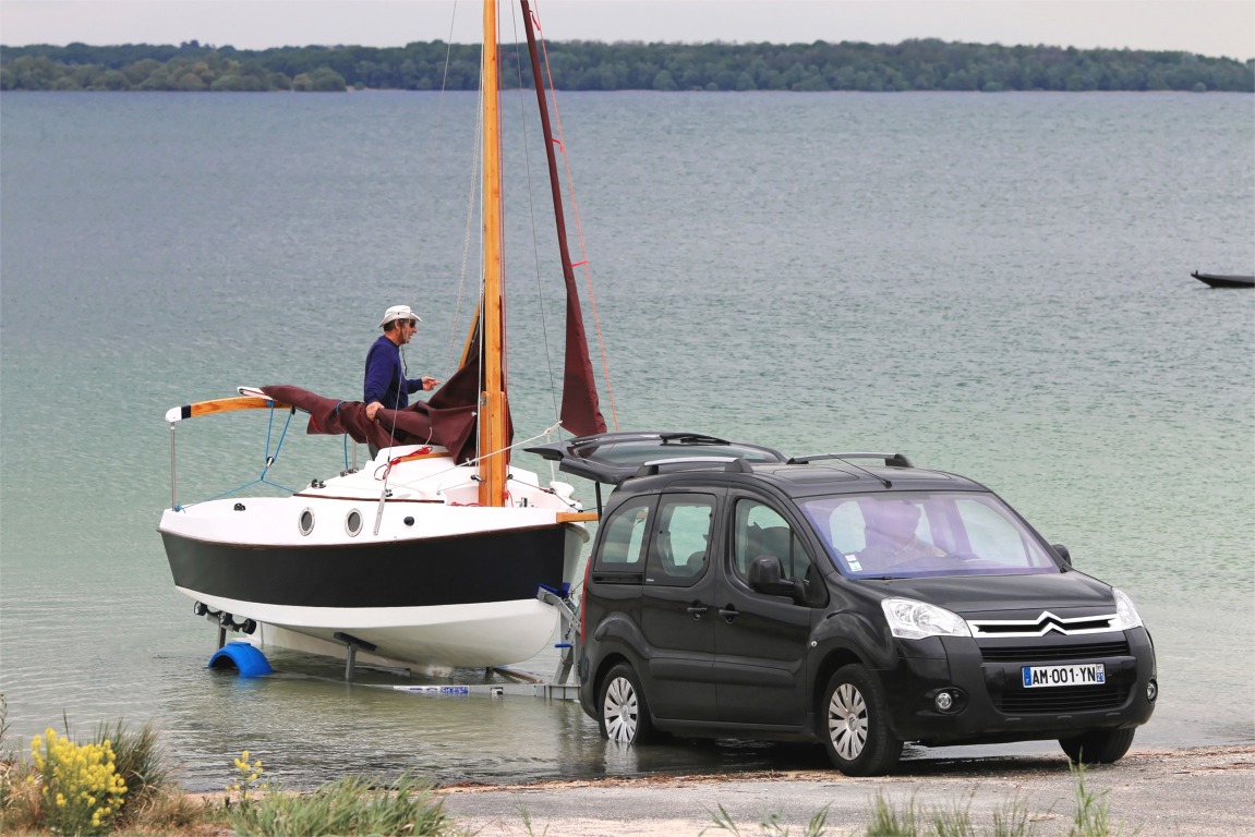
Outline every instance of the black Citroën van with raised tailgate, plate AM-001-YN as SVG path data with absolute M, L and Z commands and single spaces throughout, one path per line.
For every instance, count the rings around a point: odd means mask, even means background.
M 850 776 L 891 769 L 904 742 L 1058 739 L 1102 763 L 1155 709 L 1132 600 L 970 479 L 689 433 L 532 450 L 616 486 L 577 650 L 611 739 L 822 742 Z

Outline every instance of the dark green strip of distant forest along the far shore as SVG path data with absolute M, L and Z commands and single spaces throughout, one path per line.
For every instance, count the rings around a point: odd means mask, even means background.
M 901 44 L 550 43 L 563 90 L 1225 90 L 1255 92 L 1255 61 L 1178 51 Z M 0 90 L 471 90 L 478 45 L 5 46 Z M 502 83 L 531 85 L 526 46 L 502 51 Z

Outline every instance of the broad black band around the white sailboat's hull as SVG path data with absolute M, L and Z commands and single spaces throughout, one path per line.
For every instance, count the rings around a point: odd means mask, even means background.
M 532 599 L 562 584 L 566 526 L 449 538 L 257 547 L 162 532 L 174 585 L 295 607 L 428 607 Z

